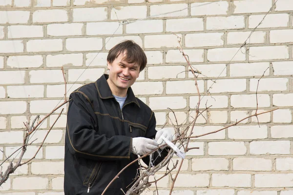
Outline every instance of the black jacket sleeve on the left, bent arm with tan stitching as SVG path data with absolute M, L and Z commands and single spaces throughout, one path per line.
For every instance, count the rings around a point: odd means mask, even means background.
M 91 102 L 79 92 L 72 93 L 70 99 L 65 136 L 70 153 L 93 160 L 129 159 L 132 138 L 99 135 Z

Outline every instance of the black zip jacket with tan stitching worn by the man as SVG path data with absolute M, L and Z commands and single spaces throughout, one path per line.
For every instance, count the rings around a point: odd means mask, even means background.
M 135 98 L 129 87 L 121 110 L 107 78 L 108 75 L 103 75 L 70 95 L 65 136 L 65 195 L 101 195 L 118 172 L 137 158 L 131 153 L 132 137 L 154 138 L 157 133 L 151 109 Z M 144 161 L 148 164 L 149 157 Z M 126 192 L 132 186 L 138 167 L 137 162 L 128 167 L 110 185 L 106 195 L 123 195 L 120 189 Z

